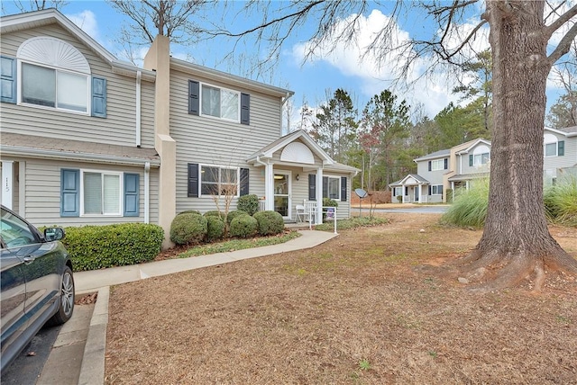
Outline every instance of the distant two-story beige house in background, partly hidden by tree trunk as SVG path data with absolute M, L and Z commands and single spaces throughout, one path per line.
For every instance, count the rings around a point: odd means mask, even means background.
M 554 184 L 563 175 L 577 175 L 577 127 L 545 127 L 544 183 Z M 453 148 L 415 159 L 417 174 L 389 184 L 392 201 L 404 203 L 447 201 L 447 191 L 469 189 L 473 180 L 490 173 L 490 141 L 475 139 Z

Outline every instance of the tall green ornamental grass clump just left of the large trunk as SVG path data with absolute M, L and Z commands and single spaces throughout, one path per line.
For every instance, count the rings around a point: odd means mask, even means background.
M 463 227 L 482 228 L 489 206 L 489 179 L 472 183 L 469 190 L 455 191 L 453 204 L 441 217 L 441 222 Z

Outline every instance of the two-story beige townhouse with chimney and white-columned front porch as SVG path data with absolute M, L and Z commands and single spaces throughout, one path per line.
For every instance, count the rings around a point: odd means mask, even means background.
M 34 224 L 157 223 L 168 246 L 178 212 L 248 193 L 287 220 L 323 197 L 350 216 L 358 170 L 304 131 L 281 137 L 292 92 L 171 58 L 164 36 L 135 67 L 56 10 L 1 33 L 1 199 Z

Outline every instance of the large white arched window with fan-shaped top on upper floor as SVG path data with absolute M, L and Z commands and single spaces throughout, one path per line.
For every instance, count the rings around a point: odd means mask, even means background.
M 66 41 L 36 37 L 18 48 L 19 102 L 89 112 L 90 66 Z

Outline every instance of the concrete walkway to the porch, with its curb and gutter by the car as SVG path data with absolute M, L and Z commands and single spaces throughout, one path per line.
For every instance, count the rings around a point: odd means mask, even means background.
M 74 341 L 75 344 L 78 344 L 78 341 L 86 341 L 83 357 L 81 362 L 76 364 L 76 368 L 71 368 L 70 360 L 62 358 L 64 357 L 62 352 L 66 348 L 66 344 L 55 345 L 42 372 L 50 373 L 50 376 L 46 376 L 50 379 L 50 383 L 69 383 L 69 381 L 59 381 L 54 373 L 66 373 L 69 379 L 70 375 L 74 377 L 74 374 L 70 373 L 71 370 L 77 373 L 78 384 L 102 385 L 104 383 L 110 286 L 217 264 L 228 264 L 243 259 L 303 250 L 321 245 L 337 236 L 334 233 L 316 230 L 299 230 L 299 232 L 302 234 L 301 237 L 291 239 L 289 242 L 280 245 L 74 273 L 77 295 L 97 291 L 98 297 L 92 317 L 88 319 L 85 312 L 75 310 L 70 321 L 60 330 L 59 338 L 60 335 L 63 336 L 59 341 Z M 79 318 L 86 319 L 82 320 Z M 78 349 L 78 347 L 75 347 L 75 349 Z M 39 383 L 48 382 L 40 381 Z

